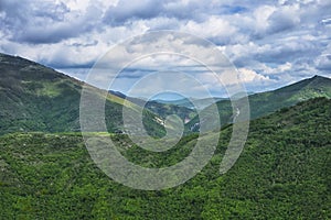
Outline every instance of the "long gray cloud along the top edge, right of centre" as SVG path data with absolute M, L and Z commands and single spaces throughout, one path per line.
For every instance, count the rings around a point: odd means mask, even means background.
M 194 20 L 203 22 L 213 14 L 243 13 L 248 9 L 242 6 L 224 4 L 222 2 L 206 3 L 204 1 L 175 1 L 175 0 L 141 0 L 124 1 L 111 6 L 106 12 L 104 21 L 111 25 L 124 25 L 135 20 L 154 18 L 175 18 L 179 21 Z

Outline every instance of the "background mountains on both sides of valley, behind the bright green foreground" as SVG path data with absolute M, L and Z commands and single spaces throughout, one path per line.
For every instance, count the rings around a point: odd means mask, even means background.
M 38 63 L 4 54 L 0 54 L 0 134 L 79 131 L 83 81 Z M 108 91 L 107 95 L 105 90 L 90 88 L 106 96 L 106 123 L 109 132 L 124 132 L 122 108 L 145 108 L 143 124 L 150 134 L 157 136 L 164 134 L 162 121 L 171 114 L 179 116 L 186 123 L 186 133 L 199 130 L 199 117 L 189 99 L 146 102 L 119 91 Z M 314 76 L 277 90 L 250 95 L 250 118 L 260 118 L 317 97 L 331 98 L 331 79 Z M 129 106 L 124 106 L 125 99 Z M 216 101 L 222 124 L 232 122 L 233 109 L 228 99 L 194 101 L 199 103 L 199 109 L 204 108 L 203 111 L 209 111 L 207 106 Z

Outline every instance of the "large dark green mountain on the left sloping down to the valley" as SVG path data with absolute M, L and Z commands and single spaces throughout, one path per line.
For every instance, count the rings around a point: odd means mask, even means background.
M 0 134 L 11 132 L 79 131 L 79 101 L 83 82 L 38 63 L 0 54 Z M 88 87 L 96 97 L 107 94 Z M 122 131 L 122 108 L 138 108 L 107 95 L 106 124 L 109 132 Z M 157 117 L 143 111 L 150 134 L 163 135 Z

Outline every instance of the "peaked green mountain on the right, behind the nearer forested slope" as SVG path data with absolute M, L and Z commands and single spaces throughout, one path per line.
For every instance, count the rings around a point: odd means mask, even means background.
M 322 76 L 313 76 L 296 84 L 260 94 L 248 96 L 250 119 L 257 119 L 273 113 L 281 108 L 293 106 L 300 101 L 325 97 L 331 98 L 331 79 Z M 232 123 L 233 109 L 229 100 L 216 102 L 221 122 L 223 125 Z M 204 109 L 209 111 L 209 108 Z M 195 117 L 186 124 L 186 131 L 199 123 Z

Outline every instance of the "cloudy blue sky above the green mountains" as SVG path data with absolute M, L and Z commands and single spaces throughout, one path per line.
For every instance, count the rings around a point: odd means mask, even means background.
M 132 53 L 146 53 L 150 42 L 119 51 L 114 50 L 119 48 L 116 45 L 162 30 L 213 43 L 235 66 L 248 92 L 279 88 L 314 75 L 331 77 L 328 0 L 0 0 L 0 52 L 81 80 L 86 80 L 107 53 L 115 54 L 114 65 L 125 64 Z M 185 42 L 179 44 L 181 48 Z M 140 58 L 117 78 L 114 90 L 127 94 L 137 77 L 172 62 L 179 66 L 190 63 L 164 55 Z M 213 96 L 224 95 L 211 73 L 193 63 L 189 66 Z M 95 86 L 104 87 L 97 81 Z

